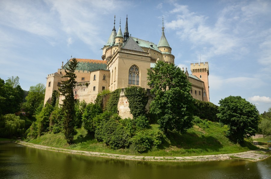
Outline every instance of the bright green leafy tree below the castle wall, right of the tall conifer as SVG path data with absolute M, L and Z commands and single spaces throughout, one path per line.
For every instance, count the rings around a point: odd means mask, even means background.
M 82 121 L 84 123 L 84 128 L 89 132 L 95 131 L 95 121 L 93 120 L 98 114 L 103 111 L 98 104 L 89 103 L 83 113 Z

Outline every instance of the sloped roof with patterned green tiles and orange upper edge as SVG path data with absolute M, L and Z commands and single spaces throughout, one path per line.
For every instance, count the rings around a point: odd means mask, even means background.
M 107 62 L 104 60 L 93 59 L 76 59 L 78 64 L 76 70 L 94 71 L 94 70 L 106 70 Z M 71 59 L 63 66 L 66 69 Z

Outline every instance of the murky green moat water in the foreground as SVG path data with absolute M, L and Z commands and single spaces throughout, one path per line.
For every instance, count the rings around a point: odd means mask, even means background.
M 208 162 L 118 160 L 0 143 L 0 178 L 271 178 L 271 157 Z

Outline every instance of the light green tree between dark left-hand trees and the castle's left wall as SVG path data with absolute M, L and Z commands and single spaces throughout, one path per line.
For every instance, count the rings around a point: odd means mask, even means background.
M 35 114 L 39 105 L 43 105 L 45 96 L 45 86 L 43 83 L 38 83 L 35 86 L 30 86 L 26 102 L 23 103 L 23 108 L 28 111 L 30 115 Z

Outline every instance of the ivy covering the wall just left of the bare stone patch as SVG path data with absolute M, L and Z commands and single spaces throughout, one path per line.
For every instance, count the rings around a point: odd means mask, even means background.
M 110 93 L 109 99 L 105 105 L 106 111 L 117 113 L 118 102 L 120 99 L 120 91 L 121 91 L 121 89 L 116 89 L 115 91 Z

